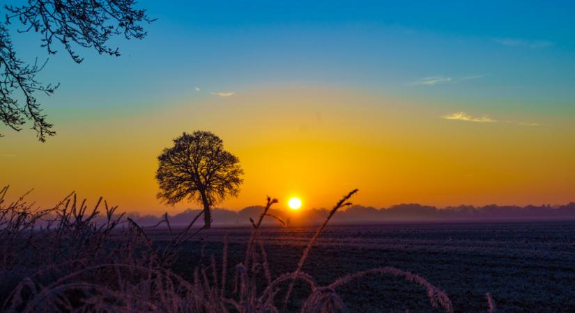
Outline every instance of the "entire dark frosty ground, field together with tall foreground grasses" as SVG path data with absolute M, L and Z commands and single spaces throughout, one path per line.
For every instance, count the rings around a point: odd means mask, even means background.
M 352 191 L 321 227 L 265 227 L 268 199 L 254 227 L 178 230 L 6 190 L 6 312 L 575 312 L 575 220 L 329 225 Z

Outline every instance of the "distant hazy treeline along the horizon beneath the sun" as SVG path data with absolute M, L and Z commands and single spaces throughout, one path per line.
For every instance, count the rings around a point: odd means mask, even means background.
M 256 220 L 263 207 L 246 207 L 240 211 L 229 209 L 213 209 L 212 217 L 215 225 L 249 225 L 250 218 Z M 172 225 L 187 224 L 197 214 L 199 209 L 187 209 L 180 214 L 170 215 Z M 321 223 L 328 215 L 328 209 L 307 209 L 289 211 L 288 209 L 270 209 L 270 213 L 281 217 L 289 225 L 309 225 Z M 130 218 L 141 225 L 158 223 L 160 216 L 128 214 Z M 333 223 L 385 223 L 401 221 L 454 221 L 454 220 L 509 220 L 509 219 L 560 219 L 575 218 L 575 202 L 569 204 L 499 206 L 496 204 L 484 207 L 462 205 L 459 207 L 446 207 L 438 209 L 421 204 L 399 204 L 389 208 L 376 209 L 355 205 L 344 211 L 338 211 L 332 218 Z M 277 224 L 273 218 L 264 220 L 264 223 Z

